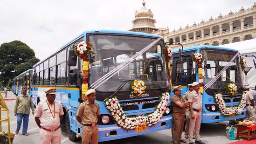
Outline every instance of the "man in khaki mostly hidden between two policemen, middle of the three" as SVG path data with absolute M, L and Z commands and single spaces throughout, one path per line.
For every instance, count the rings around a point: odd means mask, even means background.
M 188 84 L 187 85 L 188 87 L 188 91 L 183 95 L 183 98 L 188 101 L 188 94 L 189 93 L 192 93 L 192 91 L 194 90 L 193 87 L 192 87 L 192 83 Z M 188 138 L 188 135 L 189 135 L 189 123 L 190 123 L 190 110 L 189 110 L 189 106 L 187 106 L 187 109 L 186 109 L 186 126 L 185 126 L 185 138 Z

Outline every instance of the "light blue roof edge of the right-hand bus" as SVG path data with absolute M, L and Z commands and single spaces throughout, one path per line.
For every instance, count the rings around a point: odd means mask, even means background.
M 224 48 L 224 47 L 216 47 L 216 46 L 205 46 L 205 45 L 198 45 L 198 46 L 192 46 L 192 47 L 187 47 L 187 48 L 183 48 L 183 51 L 191 51 L 191 50 L 199 50 L 200 48 L 214 48 L 214 49 L 223 49 L 223 50 L 231 50 L 231 51 L 236 51 L 236 49 L 232 49 L 232 48 Z M 175 53 L 179 53 L 179 49 L 174 49 L 172 51 L 173 54 Z

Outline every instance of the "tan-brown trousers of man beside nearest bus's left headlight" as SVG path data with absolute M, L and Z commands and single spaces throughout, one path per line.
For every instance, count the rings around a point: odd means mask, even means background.
M 82 144 L 98 144 L 98 126 L 85 126 L 82 127 Z

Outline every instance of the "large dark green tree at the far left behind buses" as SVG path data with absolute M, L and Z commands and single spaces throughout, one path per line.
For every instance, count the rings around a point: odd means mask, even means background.
M 9 80 L 13 80 L 17 75 L 40 60 L 35 58 L 35 52 L 28 45 L 21 41 L 11 41 L 0 46 L 0 82 L 7 86 Z M 10 85 L 10 84 L 9 84 Z

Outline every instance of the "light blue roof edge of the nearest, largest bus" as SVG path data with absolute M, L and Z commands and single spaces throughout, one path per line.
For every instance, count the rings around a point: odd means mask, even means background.
M 103 30 L 103 29 L 102 29 L 102 30 L 97 30 L 97 29 L 95 29 L 95 30 L 86 30 L 86 31 L 84 31 L 82 34 L 79 34 L 78 36 L 76 36 L 75 39 L 73 39 L 73 40 L 69 41 L 68 43 L 66 43 L 65 45 L 63 45 L 60 49 L 69 46 L 70 44 L 72 44 L 73 42 L 77 41 L 77 40 L 80 39 L 81 37 L 86 36 L 86 34 L 92 34 L 92 33 L 94 33 L 94 34 L 96 34 L 96 33 L 99 33 L 99 34 L 130 34 L 130 35 L 139 35 L 139 36 L 148 36 L 148 37 L 159 38 L 159 36 L 158 36 L 158 35 L 155 35 L 155 34 L 131 32 L 131 31 L 121 31 L 121 30 Z M 54 52 L 53 54 L 57 53 L 58 51 L 59 51 L 59 50 L 57 50 L 57 51 Z M 50 56 L 52 56 L 52 55 L 49 55 L 49 56 L 47 56 L 45 59 L 43 59 L 42 61 L 37 62 L 37 63 L 33 66 L 33 68 L 34 68 L 36 65 L 38 65 L 38 64 L 42 63 L 43 61 L 45 61 L 46 59 L 48 59 Z

